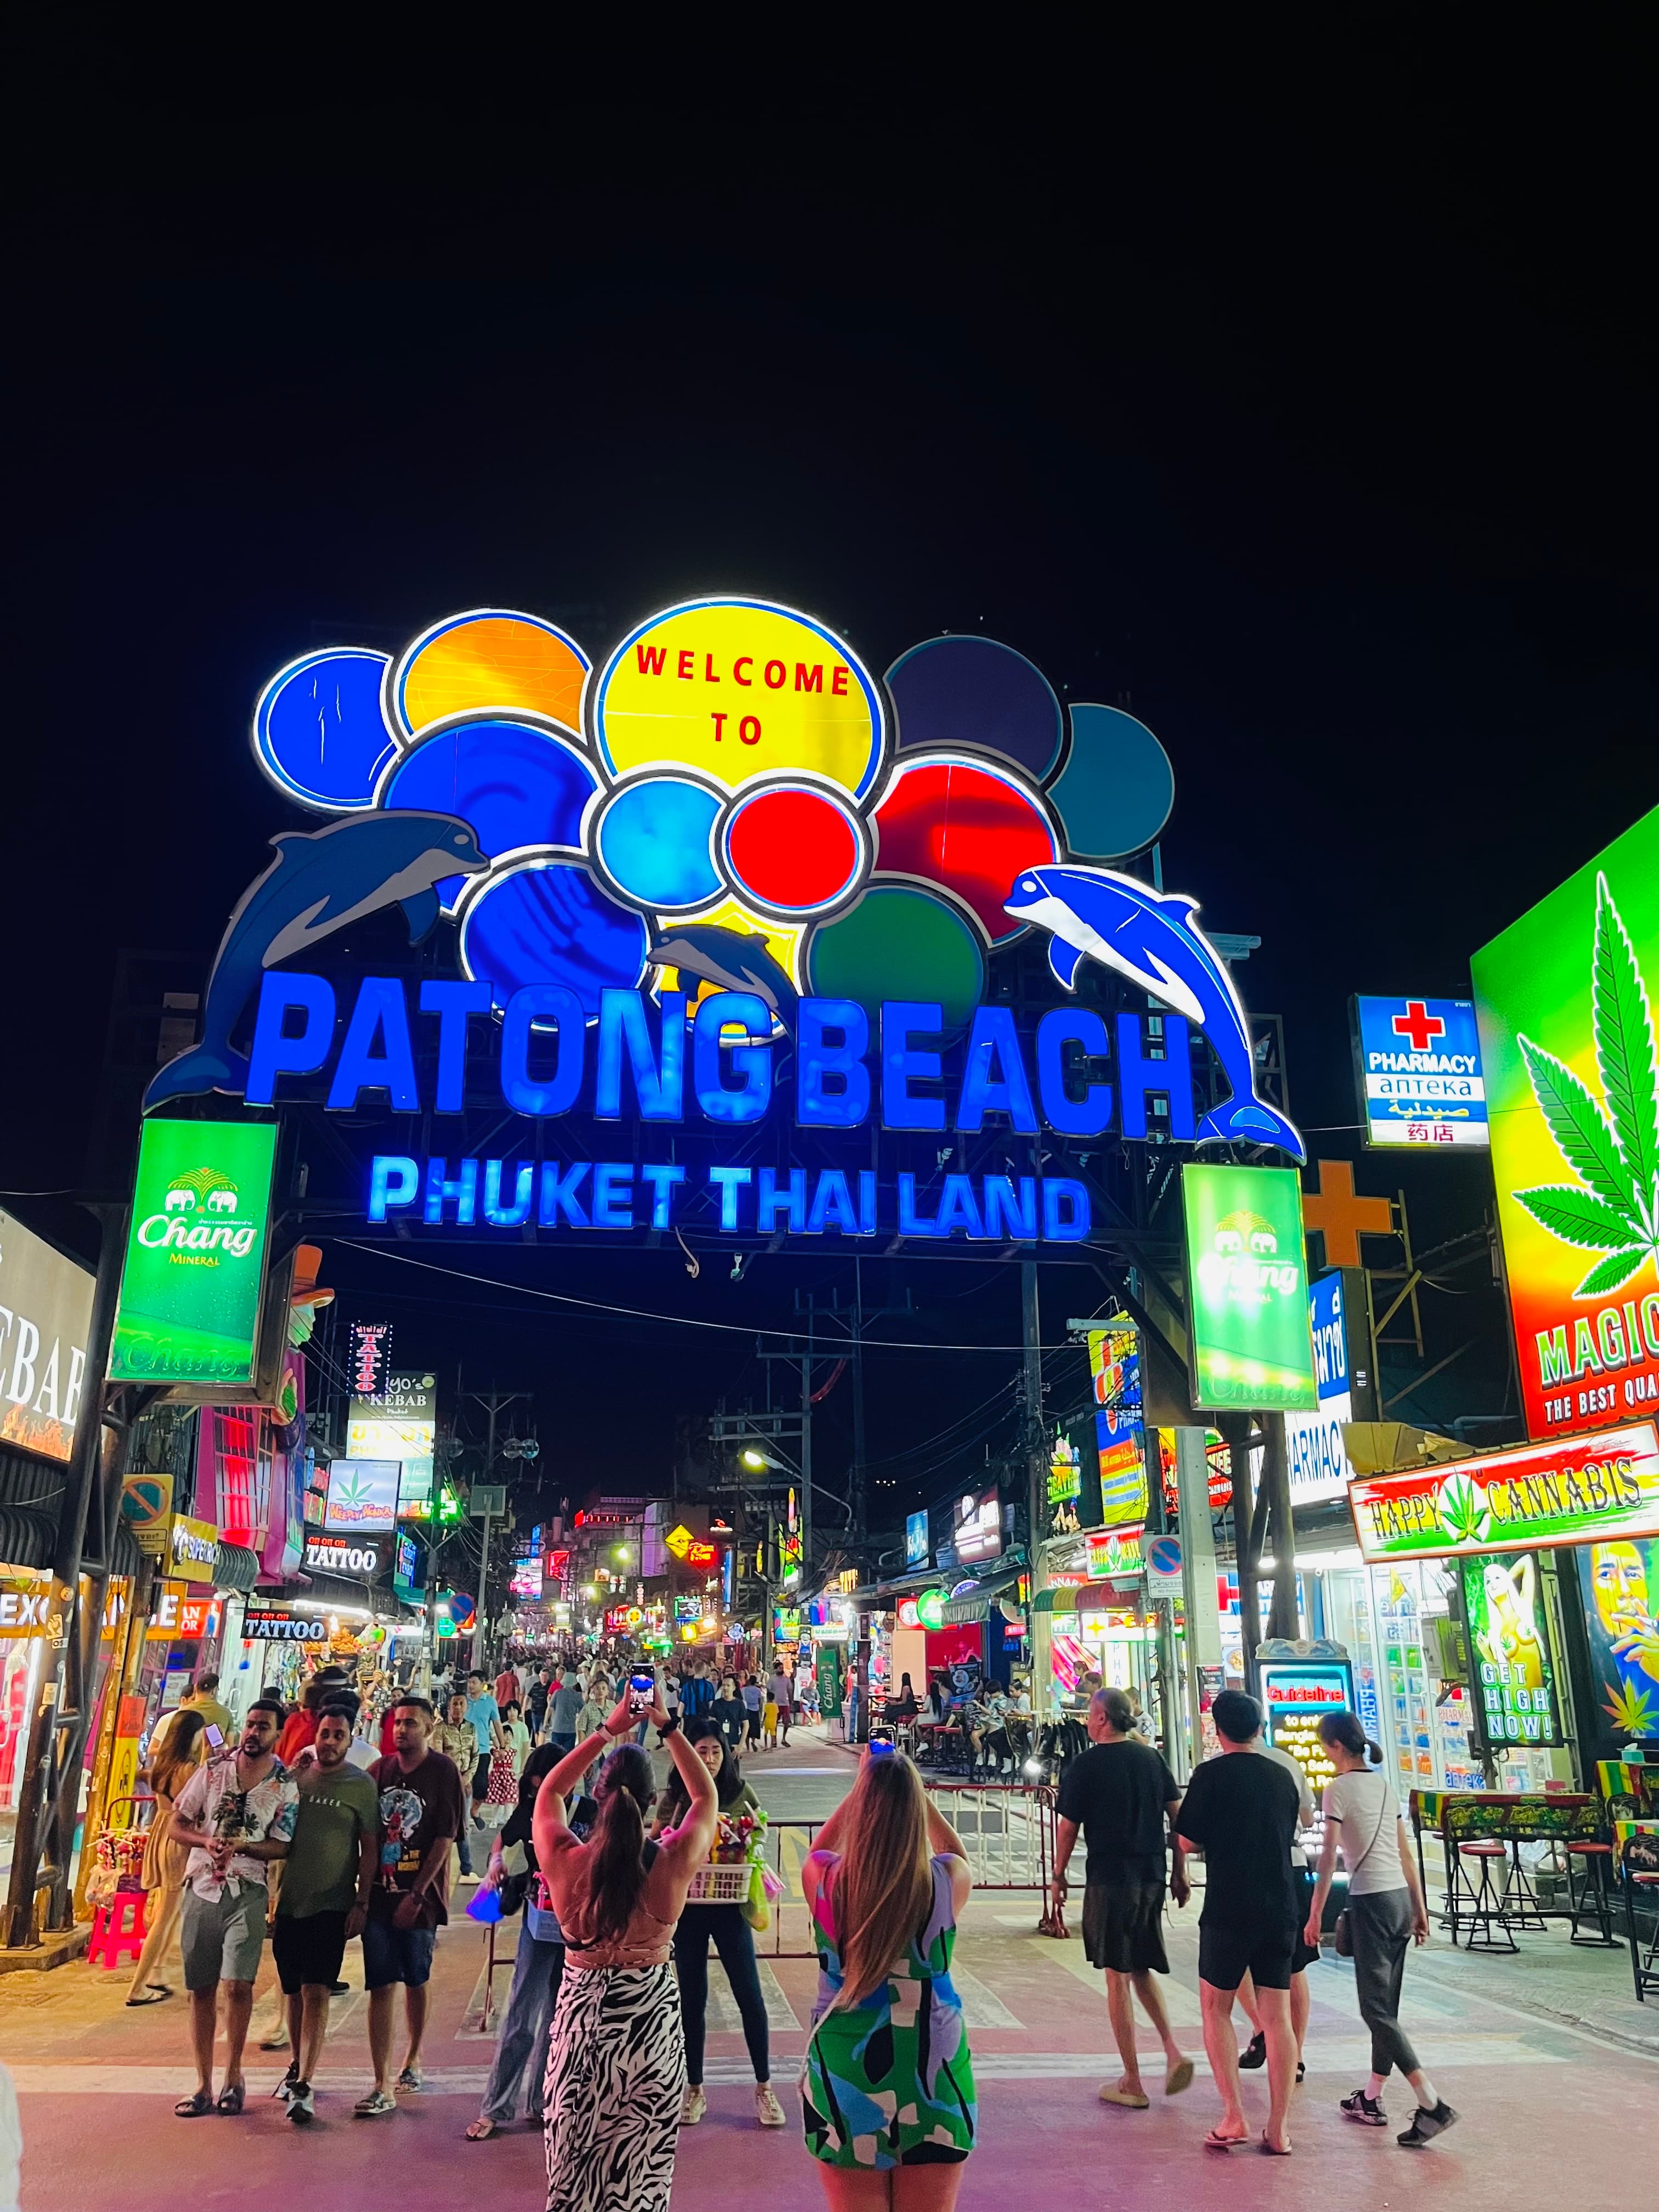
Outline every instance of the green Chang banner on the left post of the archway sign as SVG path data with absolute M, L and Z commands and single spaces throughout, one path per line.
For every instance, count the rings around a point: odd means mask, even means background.
M 274 1157 L 272 1124 L 144 1124 L 113 1383 L 252 1383 Z

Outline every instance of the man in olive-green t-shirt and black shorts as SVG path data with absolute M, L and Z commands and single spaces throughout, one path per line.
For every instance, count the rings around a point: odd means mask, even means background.
M 316 1717 L 316 1752 L 296 1774 L 299 1809 L 281 1871 L 270 1931 L 276 1975 L 288 2002 L 288 2117 L 316 2119 L 312 2077 L 323 2057 L 327 2004 L 352 1936 L 363 1933 L 376 1876 L 380 1794 L 354 1765 L 356 1699 L 330 1701 Z

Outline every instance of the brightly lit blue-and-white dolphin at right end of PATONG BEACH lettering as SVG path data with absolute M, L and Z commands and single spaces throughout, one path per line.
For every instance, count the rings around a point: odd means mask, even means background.
M 1199 1144 L 1276 1144 L 1303 1161 L 1296 1126 L 1256 1097 L 1250 1022 L 1194 911 L 1194 900 L 1110 867 L 1029 867 L 1004 900 L 1004 914 L 1048 931 L 1048 967 L 1066 991 L 1077 989 L 1084 958 L 1099 960 L 1199 1024 L 1232 1084 L 1232 1097 L 1199 1121 Z

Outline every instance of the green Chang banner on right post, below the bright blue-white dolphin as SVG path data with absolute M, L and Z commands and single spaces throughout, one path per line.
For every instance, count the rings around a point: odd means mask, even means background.
M 1303 1186 L 1294 1168 L 1181 1168 L 1192 1407 L 1312 1411 Z

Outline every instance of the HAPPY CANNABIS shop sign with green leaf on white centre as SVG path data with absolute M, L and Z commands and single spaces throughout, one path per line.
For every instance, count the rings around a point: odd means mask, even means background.
M 1360 1475 L 1347 1502 L 1374 1562 L 1650 1537 L 1659 1535 L 1659 1436 L 1637 1420 L 1451 1467 Z

